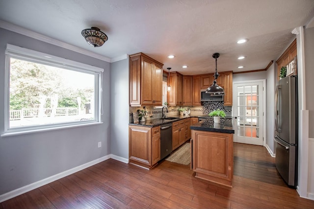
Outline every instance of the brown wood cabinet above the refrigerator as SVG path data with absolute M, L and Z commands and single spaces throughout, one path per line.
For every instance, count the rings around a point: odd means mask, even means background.
M 296 39 L 290 44 L 290 46 L 286 49 L 286 51 L 278 58 L 276 61 L 277 63 L 277 79 L 279 80 L 280 77 L 280 69 L 282 67 L 287 66 L 297 55 L 297 48 L 296 48 Z M 297 74 L 297 68 L 294 73 L 295 75 Z

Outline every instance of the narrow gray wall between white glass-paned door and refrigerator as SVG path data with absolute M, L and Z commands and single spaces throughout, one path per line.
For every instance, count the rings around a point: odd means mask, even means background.
M 274 136 L 275 136 L 275 88 L 276 88 L 276 75 L 277 65 L 273 63 L 266 71 L 266 145 L 270 148 L 272 153 L 274 149 Z

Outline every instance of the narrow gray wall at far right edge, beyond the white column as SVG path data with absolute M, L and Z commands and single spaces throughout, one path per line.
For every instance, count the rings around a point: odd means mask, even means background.
M 305 98 L 309 110 L 309 138 L 314 138 L 314 27 L 304 30 Z

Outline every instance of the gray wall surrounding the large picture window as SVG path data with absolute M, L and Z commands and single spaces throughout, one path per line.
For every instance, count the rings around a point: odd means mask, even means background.
M 105 70 L 103 124 L 0 138 L 0 194 L 110 154 L 110 64 L 2 28 L 0 37 L 0 133 L 4 130 L 4 51 L 7 43 Z M 98 148 L 99 141 L 102 141 L 101 148 Z

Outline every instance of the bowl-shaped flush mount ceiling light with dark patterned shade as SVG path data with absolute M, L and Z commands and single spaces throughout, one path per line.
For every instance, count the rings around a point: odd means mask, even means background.
M 82 30 L 82 36 L 89 45 L 94 47 L 103 46 L 103 44 L 108 40 L 107 35 L 100 31 L 98 27 L 91 27 L 90 29 L 87 28 Z

